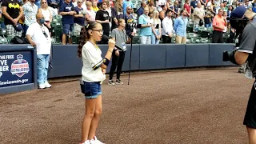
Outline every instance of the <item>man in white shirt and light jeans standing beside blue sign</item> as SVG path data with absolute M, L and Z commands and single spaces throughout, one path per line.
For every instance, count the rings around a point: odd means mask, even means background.
M 37 49 L 38 64 L 38 88 L 50 88 L 47 81 L 48 67 L 50 61 L 51 38 L 49 30 L 43 25 L 44 16 L 41 13 L 36 14 L 36 22 L 31 24 L 26 31 L 26 38 L 30 45 Z

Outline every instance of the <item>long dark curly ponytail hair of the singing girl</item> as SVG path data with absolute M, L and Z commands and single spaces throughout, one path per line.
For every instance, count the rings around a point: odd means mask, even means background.
M 82 46 L 86 44 L 88 39 L 90 38 L 90 34 L 88 34 L 88 30 L 94 29 L 97 22 L 88 22 L 86 26 L 82 26 L 81 32 L 80 32 L 80 39 L 78 43 L 78 57 L 82 57 Z

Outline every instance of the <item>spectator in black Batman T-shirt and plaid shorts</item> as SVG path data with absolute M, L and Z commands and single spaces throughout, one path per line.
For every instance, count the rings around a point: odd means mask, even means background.
M 4 15 L 7 37 L 22 37 L 22 30 L 14 29 L 14 26 L 19 25 L 18 20 L 23 16 L 21 2 L 18 2 L 18 0 L 4 0 L 2 2 L 2 14 Z

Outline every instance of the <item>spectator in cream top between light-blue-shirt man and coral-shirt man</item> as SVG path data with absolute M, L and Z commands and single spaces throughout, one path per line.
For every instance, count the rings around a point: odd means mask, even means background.
M 197 7 L 194 8 L 194 13 L 193 13 L 193 18 L 194 18 L 194 26 L 198 27 L 200 21 L 204 21 L 205 17 L 205 10 L 203 10 L 201 2 L 197 3 Z

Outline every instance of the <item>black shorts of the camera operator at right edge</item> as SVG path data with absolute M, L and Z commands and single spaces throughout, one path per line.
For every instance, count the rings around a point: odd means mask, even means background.
M 256 129 L 256 80 L 250 92 L 243 124 L 247 127 Z

